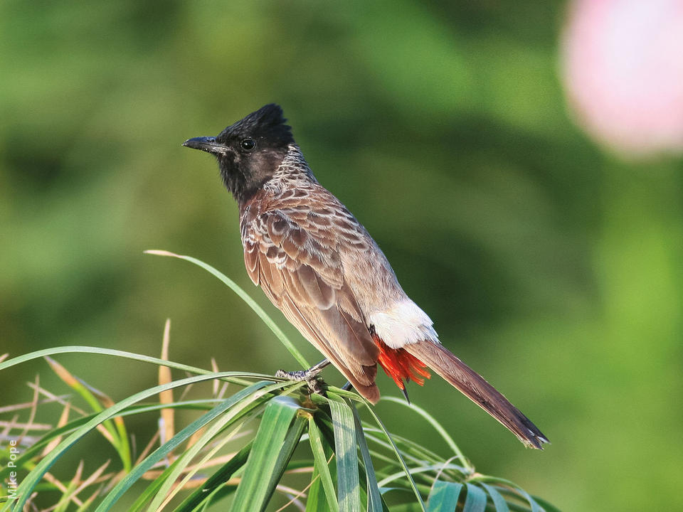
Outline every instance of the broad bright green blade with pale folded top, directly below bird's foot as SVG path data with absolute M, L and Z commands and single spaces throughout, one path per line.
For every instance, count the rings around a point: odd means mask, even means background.
M 276 463 L 285 437 L 300 408 L 297 402 L 285 397 L 273 398 L 265 407 L 254 447 L 235 494 L 232 511 L 256 512 L 268 503 L 270 479 L 277 470 Z

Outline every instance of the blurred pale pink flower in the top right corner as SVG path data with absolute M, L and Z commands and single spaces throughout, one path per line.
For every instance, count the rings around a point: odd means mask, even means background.
M 683 149 L 683 0 L 574 0 L 562 51 L 569 103 L 598 142 Z

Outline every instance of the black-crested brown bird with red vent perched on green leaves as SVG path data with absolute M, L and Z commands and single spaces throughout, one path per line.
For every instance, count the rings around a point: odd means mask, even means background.
M 271 103 L 183 146 L 216 157 L 238 203 L 250 279 L 326 358 L 292 374 L 308 379 L 332 363 L 376 404 L 377 366 L 404 392 L 409 381 L 423 385 L 430 368 L 526 447 L 543 449 L 549 441 L 538 427 L 440 343 L 375 240 L 318 183 L 286 123 Z

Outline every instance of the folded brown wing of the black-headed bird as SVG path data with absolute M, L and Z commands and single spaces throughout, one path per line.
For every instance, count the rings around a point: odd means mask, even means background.
M 378 348 L 344 280 L 339 233 L 330 229 L 333 212 L 279 206 L 285 208 L 242 216 L 249 277 L 361 395 L 376 402 Z

